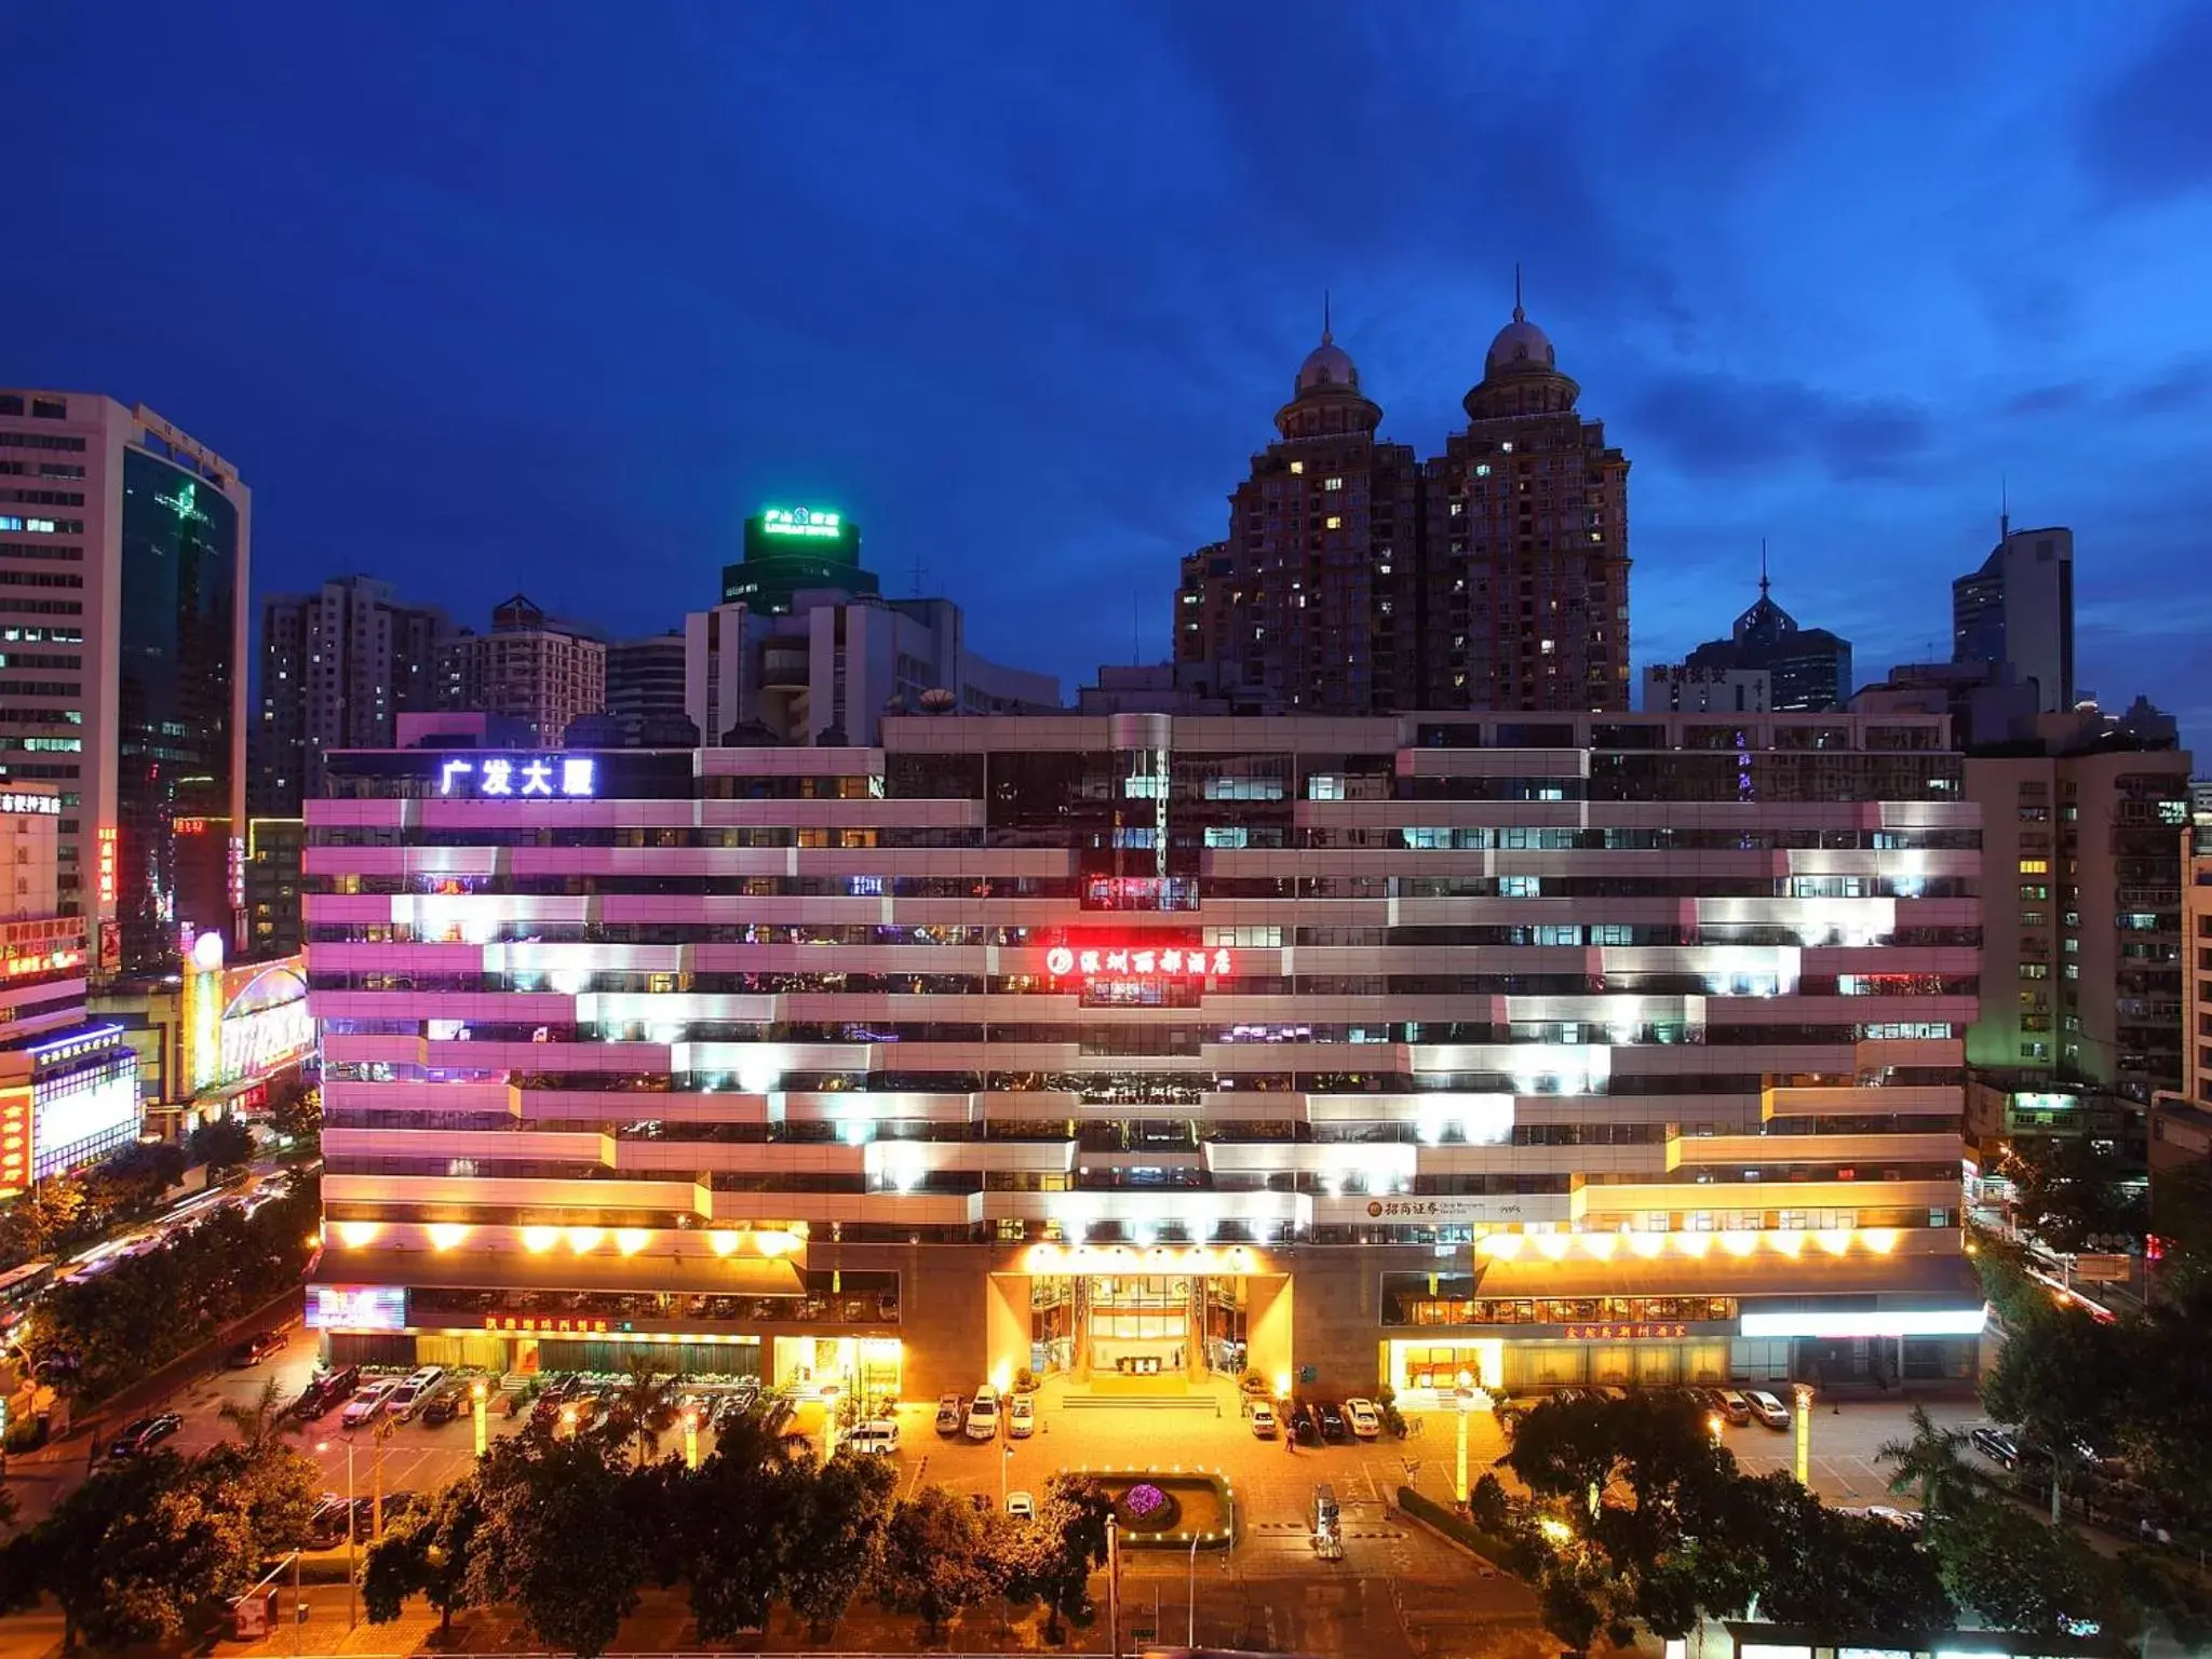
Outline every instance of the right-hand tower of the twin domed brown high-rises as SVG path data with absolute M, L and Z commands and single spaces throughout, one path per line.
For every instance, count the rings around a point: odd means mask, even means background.
M 1425 708 L 1628 708 L 1628 458 L 1515 299 L 1427 473 Z

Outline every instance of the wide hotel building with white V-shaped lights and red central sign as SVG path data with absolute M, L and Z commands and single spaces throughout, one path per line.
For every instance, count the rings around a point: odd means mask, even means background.
M 334 1358 L 1973 1369 L 1936 717 L 887 719 L 330 792 Z

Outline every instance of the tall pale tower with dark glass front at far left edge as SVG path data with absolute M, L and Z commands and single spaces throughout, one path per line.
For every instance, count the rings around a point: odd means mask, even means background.
M 250 526 L 237 467 L 144 405 L 0 389 L 0 754 L 60 792 L 95 971 L 237 931 Z

